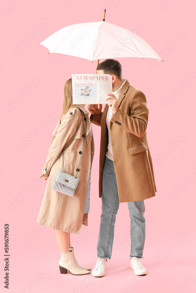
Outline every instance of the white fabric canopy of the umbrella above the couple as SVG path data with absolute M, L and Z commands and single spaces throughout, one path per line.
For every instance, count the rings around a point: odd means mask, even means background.
M 163 60 L 138 35 L 105 21 L 68 25 L 40 44 L 48 48 L 49 53 L 67 54 L 91 61 L 119 57 Z

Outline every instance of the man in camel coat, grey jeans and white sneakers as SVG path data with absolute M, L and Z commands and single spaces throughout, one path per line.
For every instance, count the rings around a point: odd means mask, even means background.
M 103 112 L 95 114 L 93 110 L 98 110 L 98 105 L 88 105 L 91 122 L 101 126 L 99 197 L 102 213 L 98 260 L 92 275 L 104 276 L 107 258 L 111 258 L 119 202 L 128 202 L 130 213 L 130 267 L 136 275 L 145 275 L 147 270 L 141 263 L 145 242 L 144 199 L 155 196 L 157 191 L 146 136 L 148 104 L 140 90 L 122 79 L 122 67 L 117 60 L 101 62 L 97 73 L 112 76 L 113 93 L 108 93 L 108 104 Z

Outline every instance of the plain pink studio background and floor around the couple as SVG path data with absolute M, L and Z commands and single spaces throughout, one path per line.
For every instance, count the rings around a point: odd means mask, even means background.
M 64 83 L 71 74 L 95 72 L 97 65 L 97 61 L 91 63 L 78 57 L 48 55 L 48 49 L 38 44 L 67 25 L 101 21 L 104 8 L 107 9 L 105 21 L 135 31 L 164 60 L 118 59 L 123 78 L 143 91 L 149 106 L 147 135 L 158 191 L 155 197 L 145 200 L 142 263 L 148 274 L 142 277 L 137 277 L 129 267 L 127 203 L 120 204 L 112 258 L 103 278 L 91 274 L 61 275 L 55 230 L 36 223 L 46 187 L 45 181 L 36 178 L 45 163 L 52 132 L 61 114 Z M 5 12 L 6 9 L 9 11 Z M 5 223 L 10 227 L 9 292 L 194 292 L 196 64 L 192 1 L 1 1 L 1 34 L 1 292 L 7 292 L 4 288 Z M 17 52 L 16 47 L 29 35 L 33 36 L 29 43 Z M 36 83 L 31 86 L 33 79 Z M 165 105 L 168 96 L 170 102 Z M 13 102 L 16 105 L 6 110 Z M 96 154 L 89 226 L 83 226 L 80 236 L 71 234 L 78 262 L 91 269 L 97 259 L 101 213 L 97 175 L 100 127 L 93 125 L 93 134 Z M 28 136 L 30 142 L 20 149 Z M 29 243 L 24 245 L 28 238 Z

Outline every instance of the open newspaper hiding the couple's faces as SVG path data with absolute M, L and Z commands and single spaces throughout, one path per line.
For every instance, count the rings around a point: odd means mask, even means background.
M 72 74 L 73 104 L 107 104 L 112 93 L 110 74 Z

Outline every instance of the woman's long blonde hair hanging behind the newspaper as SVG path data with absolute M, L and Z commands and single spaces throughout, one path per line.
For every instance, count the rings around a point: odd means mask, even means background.
M 62 113 L 61 113 L 61 116 L 59 117 L 58 121 L 61 119 L 61 117 L 65 113 L 67 113 L 74 106 L 75 105 L 73 105 L 73 98 L 72 98 L 72 79 L 70 78 L 64 84 L 63 109 L 62 109 Z M 53 137 L 53 139 L 54 138 L 55 138 L 55 136 Z M 51 141 L 51 144 L 53 142 L 53 139 Z

